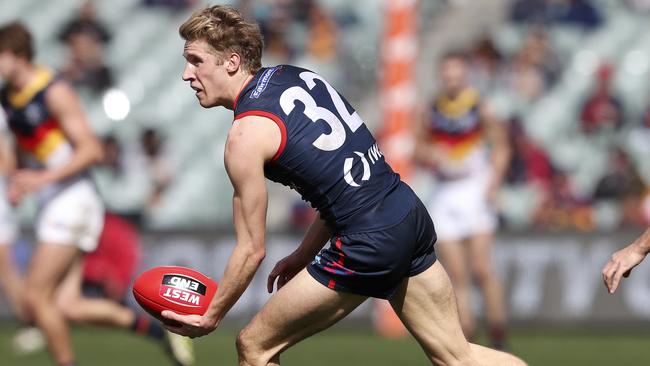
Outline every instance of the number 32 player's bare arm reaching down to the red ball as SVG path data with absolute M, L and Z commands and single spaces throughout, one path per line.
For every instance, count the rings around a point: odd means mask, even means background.
M 268 196 L 264 164 L 275 155 L 280 140 L 278 127 L 267 118 L 248 116 L 233 123 L 224 159 L 234 188 L 233 223 L 237 244 L 205 315 L 162 313 L 164 317 L 184 324 L 181 327 L 170 326 L 171 331 L 191 337 L 212 332 L 257 272 L 265 255 Z

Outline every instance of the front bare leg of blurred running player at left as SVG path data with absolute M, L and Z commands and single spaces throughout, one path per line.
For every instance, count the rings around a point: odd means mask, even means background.
M 27 276 L 25 301 L 48 342 L 50 353 L 60 365 L 74 361 L 70 330 L 56 307 L 55 291 L 79 250 L 71 245 L 40 244 Z

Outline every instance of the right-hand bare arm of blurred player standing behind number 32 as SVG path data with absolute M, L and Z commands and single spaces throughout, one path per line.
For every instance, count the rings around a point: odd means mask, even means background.
M 480 114 L 481 123 L 485 128 L 485 136 L 491 151 L 492 176 L 488 193 L 490 199 L 494 201 L 496 193 L 505 178 L 512 153 L 505 124 L 494 115 L 490 106 L 486 103 L 481 105 Z

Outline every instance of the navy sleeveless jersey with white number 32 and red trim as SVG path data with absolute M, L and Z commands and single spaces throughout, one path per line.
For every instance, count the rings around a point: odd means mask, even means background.
M 350 104 L 321 76 L 280 65 L 261 69 L 235 100 L 235 120 L 273 120 L 282 142 L 268 179 L 296 190 L 336 233 L 401 221 L 412 191 L 386 163 Z M 236 121 L 235 121 L 236 123 Z

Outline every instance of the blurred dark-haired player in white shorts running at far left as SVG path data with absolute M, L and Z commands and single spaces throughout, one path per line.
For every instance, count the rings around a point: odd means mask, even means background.
M 0 28 L 0 76 L 6 81 L 0 102 L 26 160 L 10 176 L 9 200 L 16 205 L 35 193 L 39 208 L 39 245 L 23 301 L 57 364 L 70 366 L 75 356 L 68 318 L 130 328 L 157 339 L 164 339 L 165 333 L 157 323 L 113 300 L 80 295 L 82 254 L 96 249 L 103 225 L 103 204 L 87 173 L 101 159 L 102 148 L 72 88 L 32 63 L 32 56 L 31 35 L 22 24 Z M 178 357 L 175 361 L 192 362 Z

